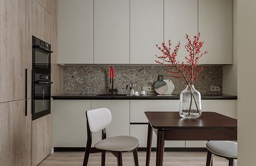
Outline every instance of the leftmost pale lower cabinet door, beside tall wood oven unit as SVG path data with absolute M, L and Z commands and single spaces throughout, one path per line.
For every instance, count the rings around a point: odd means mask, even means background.
M 52 147 L 85 147 L 87 141 L 85 112 L 91 100 L 52 100 Z M 92 145 L 101 134 L 93 134 Z

